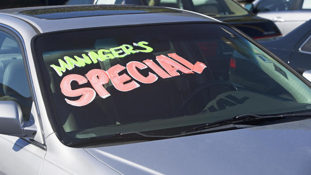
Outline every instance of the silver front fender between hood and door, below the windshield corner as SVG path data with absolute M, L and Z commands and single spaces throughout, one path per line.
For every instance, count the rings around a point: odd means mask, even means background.
M 47 154 L 41 169 L 42 175 L 120 175 L 83 148 L 65 146 L 54 133 L 46 139 L 46 144 Z

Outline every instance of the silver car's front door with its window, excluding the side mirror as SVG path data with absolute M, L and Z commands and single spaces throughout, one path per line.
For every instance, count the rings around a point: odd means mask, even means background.
M 18 34 L 0 27 L 0 101 L 17 102 L 29 121 L 35 107 L 25 61 Z M 38 175 L 45 154 L 42 143 L 0 134 L 0 175 Z

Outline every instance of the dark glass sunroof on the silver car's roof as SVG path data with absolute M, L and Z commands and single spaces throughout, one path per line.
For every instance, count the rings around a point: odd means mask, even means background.
M 94 5 L 94 6 L 44 8 L 36 10 L 27 10 L 20 13 L 43 19 L 64 19 L 64 18 L 78 18 L 78 17 L 92 17 L 92 16 L 106 16 L 106 15 L 163 13 L 163 12 L 170 13 L 180 11 L 163 7 L 130 6 L 130 5 L 126 6 Z

